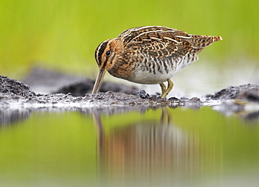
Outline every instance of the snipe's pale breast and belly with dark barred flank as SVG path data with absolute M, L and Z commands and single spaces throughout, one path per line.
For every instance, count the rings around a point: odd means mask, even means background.
M 172 78 L 196 60 L 197 57 L 190 60 L 189 56 L 164 58 L 133 56 L 127 59 L 127 63 L 120 64 L 109 73 L 133 83 L 159 84 Z

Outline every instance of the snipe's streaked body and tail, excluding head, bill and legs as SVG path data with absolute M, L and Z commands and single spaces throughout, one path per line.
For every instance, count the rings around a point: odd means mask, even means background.
M 113 76 L 135 83 L 155 84 L 167 81 L 189 64 L 198 60 L 198 54 L 221 36 L 193 35 L 181 30 L 161 26 L 134 27 L 122 32 L 125 63 L 132 76 Z M 119 67 L 118 67 L 119 69 Z

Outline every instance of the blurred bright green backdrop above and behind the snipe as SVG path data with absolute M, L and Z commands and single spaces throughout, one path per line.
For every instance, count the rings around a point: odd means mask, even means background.
M 202 53 L 203 60 L 221 67 L 254 64 L 259 59 L 258 7 L 255 0 L 0 0 L 0 74 L 22 78 L 37 64 L 95 78 L 99 43 L 144 25 L 223 36 Z

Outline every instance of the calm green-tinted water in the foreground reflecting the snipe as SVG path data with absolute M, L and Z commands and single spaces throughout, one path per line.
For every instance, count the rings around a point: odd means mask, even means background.
M 259 125 L 211 106 L 1 111 L 1 186 L 257 186 Z

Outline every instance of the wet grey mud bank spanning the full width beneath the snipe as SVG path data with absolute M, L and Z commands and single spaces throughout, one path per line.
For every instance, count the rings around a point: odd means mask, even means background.
M 98 106 L 100 104 L 111 106 L 169 106 L 169 105 L 179 105 L 179 106 L 203 106 L 203 105 L 216 105 L 218 103 L 223 103 L 229 99 L 239 99 L 246 102 L 252 102 L 259 104 L 259 85 L 239 85 L 230 86 L 224 88 L 218 92 L 211 95 L 206 95 L 202 98 L 176 98 L 169 97 L 167 99 L 162 99 L 158 95 L 148 95 L 144 90 L 139 90 L 137 88 L 132 88 L 131 86 L 127 88 L 123 85 L 123 88 L 118 88 L 120 85 L 109 84 L 107 90 L 108 92 L 99 92 L 95 95 L 86 93 L 83 95 L 83 90 L 80 87 L 83 86 L 87 90 L 92 90 L 94 81 L 90 83 L 90 80 L 80 81 L 78 83 L 72 83 L 71 85 L 66 85 L 63 88 L 58 88 L 55 92 L 59 90 L 66 90 L 67 93 L 53 93 L 53 94 L 36 94 L 29 85 L 16 81 L 12 78 L 6 76 L 0 76 L 0 106 L 8 104 L 64 104 L 64 105 L 90 105 Z M 105 88 L 105 86 L 104 86 Z M 76 92 L 74 96 L 71 94 L 73 90 L 80 90 Z M 125 91 L 125 93 L 123 93 Z

